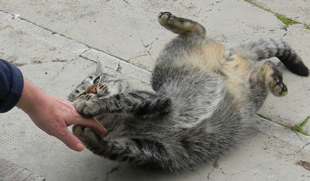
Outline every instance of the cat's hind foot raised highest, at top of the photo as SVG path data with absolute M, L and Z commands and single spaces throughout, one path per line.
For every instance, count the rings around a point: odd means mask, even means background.
M 157 16 L 158 22 L 166 29 L 180 35 L 199 34 L 205 35 L 206 29 L 199 23 L 179 18 L 172 15 L 170 12 L 160 12 Z

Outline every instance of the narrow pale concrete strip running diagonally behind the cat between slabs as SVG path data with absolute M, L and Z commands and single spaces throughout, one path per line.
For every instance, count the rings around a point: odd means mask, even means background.
M 85 44 L 79 43 L 70 38 L 64 37 L 59 34 L 52 34 L 51 31 L 46 30 L 29 21 L 13 17 L 14 16 L 10 13 L 0 10 L 0 22 L 4 24 L 12 26 L 13 28 L 29 34 L 35 38 L 43 40 L 57 47 L 63 48 L 69 52 L 77 54 L 78 56 L 84 57 L 91 61 L 96 62 L 96 60 L 101 57 L 100 60 L 103 60 L 105 66 L 107 66 L 108 68 L 116 71 L 121 66 L 123 75 L 127 75 L 134 79 L 140 80 L 143 83 L 150 84 L 151 72 L 149 72 L 148 70 L 135 66 L 127 61 L 109 55 L 100 50 L 96 50 L 95 48 L 89 48 Z M 262 118 L 260 119 L 263 120 Z M 276 128 L 281 128 L 283 130 L 285 129 L 283 126 L 266 120 L 261 121 L 260 126 L 258 126 L 258 129 L 263 133 L 273 135 L 277 138 L 280 138 L 281 140 L 284 140 L 293 145 L 310 151 L 310 145 L 307 145 L 307 143 L 310 143 L 309 136 L 297 136 L 296 133 L 293 131 L 291 131 L 290 135 L 287 135 L 287 133 L 284 133 L 284 131 L 275 132 Z

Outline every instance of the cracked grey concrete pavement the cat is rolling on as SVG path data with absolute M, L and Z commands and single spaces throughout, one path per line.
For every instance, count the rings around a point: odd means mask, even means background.
M 107 72 L 149 89 L 154 61 L 175 36 L 157 23 L 156 15 L 170 11 L 196 20 L 208 35 L 228 45 L 283 37 L 310 67 L 310 30 L 305 28 L 310 25 L 309 2 L 272 2 L 1 1 L 0 57 L 18 66 L 39 88 L 63 98 L 95 70 L 97 58 L 105 61 Z M 286 26 L 270 11 L 298 24 Z M 214 165 L 170 174 L 134 169 L 88 150 L 74 152 L 16 108 L 0 115 L 0 157 L 46 180 L 310 181 L 310 171 L 296 165 L 298 160 L 310 161 L 310 137 L 288 129 L 310 116 L 310 78 L 293 75 L 283 65 L 279 68 L 289 93 L 281 98 L 268 96 L 259 111 L 272 121 L 253 120 L 249 138 Z M 303 129 L 309 133 L 308 126 Z

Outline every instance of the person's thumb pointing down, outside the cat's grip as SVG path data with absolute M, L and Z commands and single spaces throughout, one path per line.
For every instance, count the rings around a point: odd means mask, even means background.
M 68 129 L 64 129 L 62 133 L 55 135 L 56 138 L 60 139 L 70 149 L 81 152 L 84 150 L 82 142 L 74 136 Z

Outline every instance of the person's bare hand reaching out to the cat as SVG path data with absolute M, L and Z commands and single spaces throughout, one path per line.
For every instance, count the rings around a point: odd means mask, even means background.
M 67 126 L 79 124 L 92 127 L 100 134 L 106 129 L 95 119 L 79 115 L 72 102 L 49 95 L 24 79 L 24 89 L 16 105 L 21 108 L 40 129 L 60 139 L 69 148 L 82 151 L 82 142 L 75 137 Z

